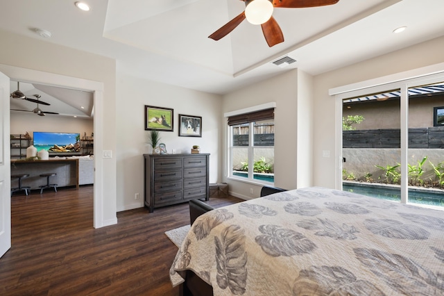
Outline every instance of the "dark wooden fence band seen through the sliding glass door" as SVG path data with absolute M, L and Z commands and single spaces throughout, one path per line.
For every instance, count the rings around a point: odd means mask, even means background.
M 343 131 L 343 148 L 400 148 L 400 129 Z M 409 148 L 444 149 L 444 126 L 409 129 Z

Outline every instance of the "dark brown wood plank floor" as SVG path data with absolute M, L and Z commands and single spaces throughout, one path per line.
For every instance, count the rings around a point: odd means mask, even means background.
M 241 202 L 212 197 L 214 207 Z M 12 247 L 0 258 L 0 295 L 178 295 L 178 248 L 164 231 L 189 224 L 188 204 L 117 213 L 94 229 L 93 186 L 11 199 Z

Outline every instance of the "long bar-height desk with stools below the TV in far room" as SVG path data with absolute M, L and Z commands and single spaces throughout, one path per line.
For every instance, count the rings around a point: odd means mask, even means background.
M 49 158 L 48 161 L 21 161 L 11 159 L 11 174 L 29 174 L 22 180 L 23 186 L 31 186 L 31 189 L 39 189 L 46 184 L 46 179 L 40 174 L 55 172 L 57 176 L 51 177 L 51 183 L 58 187 L 76 186 L 78 189 L 78 159 L 77 158 Z M 15 180 L 12 182 L 16 182 Z M 11 188 L 17 187 L 11 183 Z

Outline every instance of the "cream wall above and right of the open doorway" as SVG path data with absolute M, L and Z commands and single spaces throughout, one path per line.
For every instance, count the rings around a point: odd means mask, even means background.
M 0 31 L 0 40 L 0 64 L 103 83 L 103 101 L 99 101 L 100 106 L 96 105 L 94 108 L 94 148 L 116 150 L 114 60 L 5 31 Z M 78 88 L 83 89 L 82 86 L 78 85 Z M 100 130 L 96 129 L 96 126 L 100 126 Z M 95 161 L 96 165 L 97 163 L 100 165 L 101 179 L 95 180 L 94 192 L 97 188 L 101 188 L 101 194 L 99 197 L 94 197 L 99 199 L 99 204 L 94 203 L 94 206 L 101 207 L 102 215 L 94 217 L 94 221 L 99 220 L 96 226 L 101 227 L 117 222 L 116 160 L 115 157 L 102 160 L 101 151 L 96 151 Z

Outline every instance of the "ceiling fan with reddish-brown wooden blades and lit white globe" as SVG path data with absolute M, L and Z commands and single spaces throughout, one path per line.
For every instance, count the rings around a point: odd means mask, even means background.
M 268 47 L 284 42 L 284 35 L 278 22 L 274 19 L 273 8 L 307 8 L 316 6 L 327 6 L 338 3 L 339 0 L 241 0 L 245 2 L 246 8 L 234 19 L 208 36 L 213 40 L 219 40 L 228 35 L 239 24 L 247 19 L 251 24 L 260 24 L 262 33 Z

